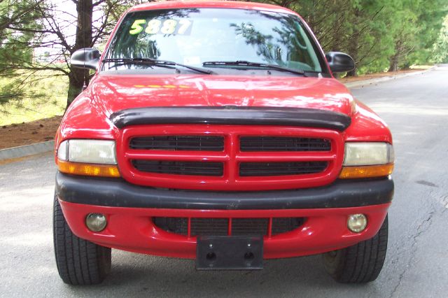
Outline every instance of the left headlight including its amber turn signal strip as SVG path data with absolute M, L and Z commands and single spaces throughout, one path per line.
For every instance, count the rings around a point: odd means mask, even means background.
M 73 175 L 120 177 L 115 141 L 66 140 L 57 149 L 59 171 Z

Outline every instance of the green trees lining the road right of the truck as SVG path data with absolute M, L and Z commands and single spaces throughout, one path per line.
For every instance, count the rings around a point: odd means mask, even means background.
M 325 51 L 351 55 L 356 64 L 351 76 L 428 62 L 447 13 L 446 0 L 267 2 L 300 13 Z

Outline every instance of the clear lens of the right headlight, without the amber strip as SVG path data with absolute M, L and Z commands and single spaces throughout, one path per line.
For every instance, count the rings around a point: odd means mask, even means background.
M 393 159 L 393 146 L 389 143 L 345 143 L 344 166 L 389 164 Z

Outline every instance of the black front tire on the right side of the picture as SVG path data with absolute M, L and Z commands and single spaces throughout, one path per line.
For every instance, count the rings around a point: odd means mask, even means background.
M 387 250 L 387 215 L 378 233 L 366 241 L 323 254 L 325 270 L 339 283 L 368 283 L 377 279 Z

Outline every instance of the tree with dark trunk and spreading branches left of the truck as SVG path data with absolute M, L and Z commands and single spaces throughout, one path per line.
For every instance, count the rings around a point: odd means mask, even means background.
M 29 5 L 25 6 L 25 3 Z M 17 11 L 18 15 L 26 20 L 27 17 L 24 16 L 30 11 L 28 7 L 31 7 L 34 23 L 32 25 L 27 22 L 22 23 L 21 19 L 13 22 L 11 18 L 1 22 L 10 39 L 13 36 L 23 36 L 21 39 L 8 40 L 3 48 L 14 46 L 28 49 L 29 53 L 36 48 L 49 48 L 51 51 L 50 59 L 45 62 L 33 61 L 30 55 L 19 55 L 18 59 L 14 60 L 0 59 L 0 69 L 10 69 L 15 72 L 50 70 L 68 76 L 67 107 L 82 91 L 84 83 L 88 84 L 89 80 L 88 71 L 70 66 L 71 54 L 80 48 L 91 48 L 104 43 L 105 38 L 113 29 L 115 22 L 112 21 L 117 20 L 120 13 L 127 7 L 141 3 L 141 0 L 71 0 L 71 3 L 75 6 L 76 13 L 71 13 L 67 9 L 62 10 L 49 1 L 20 0 L 17 5 L 9 5 L 5 8 L 4 15 Z M 70 1 L 65 4 L 68 6 Z M 97 15 L 96 18 L 94 18 L 95 15 Z M 55 62 L 64 63 L 56 64 Z

